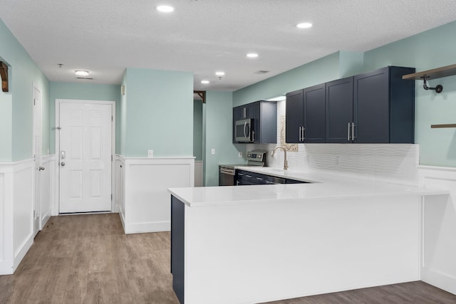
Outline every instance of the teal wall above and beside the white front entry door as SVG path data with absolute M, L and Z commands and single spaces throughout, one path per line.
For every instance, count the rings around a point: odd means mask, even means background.
M 56 131 L 56 99 L 79 99 L 79 100 L 110 100 L 115 101 L 116 139 L 115 152 L 120 151 L 120 85 L 103 85 L 93 83 L 59 83 L 51 81 L 51 98 L 49 103 L 49 124 L 48 127 L 51 154 L 55 153 Z

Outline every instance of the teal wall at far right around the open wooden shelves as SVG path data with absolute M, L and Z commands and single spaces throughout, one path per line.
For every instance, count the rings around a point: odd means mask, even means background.
M 417 72 L 456 63 L 456 22 L 405 38 L 365 53 L 366 70 L 386 65 L 415 67 Z M 413 80 L 405 80 L 413 81 Z M 431 129 L 430 125 L 456 123 L 456 76 L 430 80 L 443 85 L 440 94 L 415 81 L 415 142 L 420 144 L 420 164 L 456 167 L 456 129 Z

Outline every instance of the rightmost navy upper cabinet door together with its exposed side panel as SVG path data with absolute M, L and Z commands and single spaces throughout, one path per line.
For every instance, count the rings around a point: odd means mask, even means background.
M 413 143 L 415 82 L 403 75 L 415 68 L 388 66 L 353 80 L 353 142 Z

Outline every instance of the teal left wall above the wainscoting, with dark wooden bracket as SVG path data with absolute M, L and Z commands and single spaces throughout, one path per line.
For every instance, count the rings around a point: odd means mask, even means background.
M 30 159 L 33 137 L 33 85 L 41 90 L 43 154 L 48 150 L 49 81 L 0 20 L 0 58 L 9 65 L 9 93 L 0 91 L 0 162 Z

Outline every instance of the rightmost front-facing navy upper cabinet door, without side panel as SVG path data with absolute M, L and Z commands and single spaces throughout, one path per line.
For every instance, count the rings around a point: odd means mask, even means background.
M 355 138 L 359 143 L 390 142 L 389 68 L 353 80 Z

